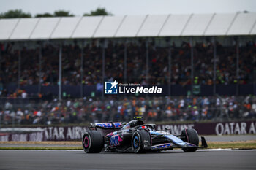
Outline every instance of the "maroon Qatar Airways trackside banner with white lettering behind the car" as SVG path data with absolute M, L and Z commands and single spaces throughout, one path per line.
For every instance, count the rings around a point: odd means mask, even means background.
M 170 131 L 171 134 L 181 134 L 184 128 L 195 128 L 200 135 L 256 134 L 256 121 L 157 125 L 157 131 Z M 0 141 L 78 141 L 87 130 L 85 126 L 1 128 Z M 116 139 L 113 144 L 115 142 Z

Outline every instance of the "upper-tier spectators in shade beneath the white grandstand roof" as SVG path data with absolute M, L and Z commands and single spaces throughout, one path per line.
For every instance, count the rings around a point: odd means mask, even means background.
M 62 84 L 95 85 L 102 83 L 102 42 L 94 40 L 83 47 L 78 42 L 63 45 Z M 59 81 L 59 45 L 45 43 L 39 46 L 22 47 L 15 50 L 12 43 L 0 44 L 1 67 L 0 82 L 4 85 L 18 82 L 18 56 L 20 55 L 20 85 L 57 85 Z M 140 84 L 167 85 L 170 77 L 168 70 L 169 47 L 148 43 L 148 77 L 146 66 L 146 41 L 127 43 L 127 80 L 124 76 L 124 42 L 108 41 L 105 45 L 105 80 L 118 82 L 137 82 Z M 239 48 L 238 77 L 236 73 L 236 45 L 224 47 L 217 42 L 216 83 L 248 84 L 253 82 L 256 72 L 256 44 L 247 42 Z M 180 46 L 171 45 L 171 84 L 191 83 L 191 49 L 187 42 Z M 42 60 L 39 61 L 39 51 Z M 208 42 L 196 42 L 193 47 L 194 82 L 212 85 L 214 82 L 214 45 Z M 20 54 L 19 54 L 20 53 Z M 41 63 L 41 66 L 39 66 Z M 83 64 L 83 72 L 81 72 Z

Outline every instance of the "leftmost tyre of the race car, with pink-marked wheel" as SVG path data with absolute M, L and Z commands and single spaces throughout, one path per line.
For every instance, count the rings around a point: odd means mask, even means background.
M 104 147 L 103 137 L 99 131 L 86 131 L 83 135 L 83 150 L 86 153 L 99 153 Z

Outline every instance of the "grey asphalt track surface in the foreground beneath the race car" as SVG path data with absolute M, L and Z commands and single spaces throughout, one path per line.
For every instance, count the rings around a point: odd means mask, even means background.
M 0 150 L 0 169 L 255 169 L 256 150 L 159 153 Z

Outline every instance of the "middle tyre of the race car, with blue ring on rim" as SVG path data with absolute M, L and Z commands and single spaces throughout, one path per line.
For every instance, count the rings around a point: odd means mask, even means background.
M 147 131 L 135 131 L 132 134 L 132 151 L 135 153 L 146 152 L 146 147 L 151 145 L 151 136 Z

